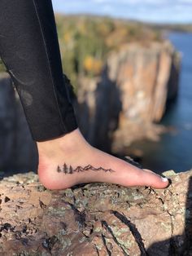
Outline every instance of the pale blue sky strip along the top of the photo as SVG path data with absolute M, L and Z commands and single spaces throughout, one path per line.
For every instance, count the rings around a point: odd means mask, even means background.
M 192 0 L 52 0 L 55 12 L 88 13 L 158 23 L 192 23 Z

